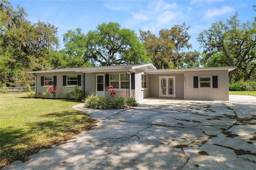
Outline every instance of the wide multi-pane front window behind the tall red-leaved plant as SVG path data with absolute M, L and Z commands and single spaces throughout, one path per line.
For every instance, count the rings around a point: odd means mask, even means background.
M 129 75 L 126 74 L 110 74 L 110 84 L 115 84 L 117 89 L 126 89 L 129 87 Z

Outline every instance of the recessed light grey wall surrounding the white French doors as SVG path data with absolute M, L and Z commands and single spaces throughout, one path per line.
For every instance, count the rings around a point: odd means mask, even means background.
M 159 77 L 175 77 L 175 94 L 177 98 L 184 97 L 184 74 L 151 74 L 150 77 L 150 97 L 159 97 Z

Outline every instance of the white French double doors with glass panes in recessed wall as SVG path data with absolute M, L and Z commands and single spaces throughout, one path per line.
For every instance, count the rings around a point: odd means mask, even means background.
M 159 77 L 159 96 L 175 97 L 175 77 Z

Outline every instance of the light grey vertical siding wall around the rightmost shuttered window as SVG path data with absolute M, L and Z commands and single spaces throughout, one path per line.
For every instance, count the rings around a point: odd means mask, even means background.
M 218 76 L 218 88 L 194 88 L 194 76 L 201 75 Z M 184 99 L 229 100 L 228 70 L 185 72 L 185 81 Z

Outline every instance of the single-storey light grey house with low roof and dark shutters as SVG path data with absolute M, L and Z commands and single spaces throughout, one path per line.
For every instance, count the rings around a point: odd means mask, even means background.
M 236 67 L 156 69 L 154 65 L 113 65 L 31 71 L 36 79 L 36 97 L 47 87 L 57 85 L 56 97 L 62 98 L 78 86 L 86 95 L 110 97 L 106 87 L 116 84 L 117 96 L 170 97 L 196 100 L 229 100 L 228 72 Z M 46 81 L 49 83 L 46 84 Z M 112 89 L 110 89 L 112 90 Z

